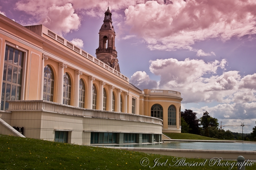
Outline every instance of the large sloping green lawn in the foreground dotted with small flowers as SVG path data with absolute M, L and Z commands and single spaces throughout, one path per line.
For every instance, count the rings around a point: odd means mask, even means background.
M 145 157 L 148 158 L 149 164 L 143 167 L 140 165 L 140 161 Z M 160 158 L 159 162 L 161 163 L 167 161 L 167 164 L 166 167 L 157 167 L 156 165 L 152 168 L 153 170 L 228 170 L 230 168 L 216 165 L 210 167 L 209 160 L 194 158 L 186 158 L 186 162 L 198 162 L 199 164 L 206 161 L 206 164 L 203 167 L 169 167 L 169 164 L 174 164 L 171 160 L 176 160 L 176 158 L 128 150 L 79 146 L 0 135 L 0 170 L 149 170 L 149 166 L 154 166 L 156 158 Z M 229 162 L 232 163 L 232 161 Z M 246 167 L 246 169 L 256 169 L 256 165 Z

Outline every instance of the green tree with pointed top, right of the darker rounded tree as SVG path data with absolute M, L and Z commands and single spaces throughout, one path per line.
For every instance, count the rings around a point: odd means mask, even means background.
M 209 127 L 218 127 L 219 125 L 218 119 L 211 117 L 207 111 L 203 113 L 203 116 L 199 121 L 200 126 L 202 126 L 202 130 L 204 130 L 202 135 L 207 137 L 209 137 Z

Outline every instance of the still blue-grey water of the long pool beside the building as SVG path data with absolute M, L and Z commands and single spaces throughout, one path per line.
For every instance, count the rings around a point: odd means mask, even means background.
M 256 144 L 223 143 L 223 142 L 170 142 L 170 143 L 160 143 L 160 144 L 123 144 L 123 145 L 107 145 L 106 147 L 141 147 L 141 148 L 256 151 Z

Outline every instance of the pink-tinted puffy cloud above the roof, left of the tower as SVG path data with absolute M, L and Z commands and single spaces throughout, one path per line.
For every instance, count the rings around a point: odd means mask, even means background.
M 75 13 L 71 3 L 67 0 L 28 0 L 16 3 L 18 10 L 31 14 L 38 20 L 37 23 L 43 24 L 49 29 L 62 35 L 72 30 L 77 30 L 80 26 L 80 17 Z M 26 24 L 26 23 L 25 23 Z

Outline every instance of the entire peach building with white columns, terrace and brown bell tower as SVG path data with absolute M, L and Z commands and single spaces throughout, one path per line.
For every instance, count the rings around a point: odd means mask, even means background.
M 141 91 L 120 73 L 111 15 L 95 58 L 43 25 L 0 14 L 1 134 L 23 127 L 35 139 L 123 144 L 161 142 L 162 129 L 180 133 L 180 92 Z

